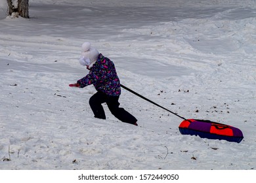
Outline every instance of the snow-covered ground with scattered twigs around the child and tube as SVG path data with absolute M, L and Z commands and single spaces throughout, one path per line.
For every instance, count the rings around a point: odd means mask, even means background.
M 256 169 L 256 3 L 31 0 L 0 3 L 0 169 Z M 122 90 L 139 127 L 93 117 L 95 89 L 69 88 L 89 41 L 121 84 L 184 118 L 238 127 L 236 142 L 181 135 L 182 119 Z M 7 161 L 11 160 L 11 161 Z

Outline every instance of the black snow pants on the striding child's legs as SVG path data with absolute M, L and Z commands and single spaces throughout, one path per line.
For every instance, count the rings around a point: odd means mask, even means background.
M 95 93 L 89 100 L 89 104 L 95 118 L 106 120 L 106 115 L 102 107 L 102 103 L 106 103 L 110 112 L 121 122 L 128 124 L 137 124 L 137 119 L 127 112 L 124 108 L 119 108 L 120 103 L 118 102 L 119 96 L 106 95 L 103 92 Z

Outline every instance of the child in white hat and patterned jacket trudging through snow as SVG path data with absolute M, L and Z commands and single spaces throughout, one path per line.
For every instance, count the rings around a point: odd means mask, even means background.
M 119 108 L 119 96 L 121 94 L 120 81 L 116 73 L 114 63 L 99 54 L 91 47 L 90 42 L 82 44 L 80 64 L 89 69 L 89 74 L 77 80 L 70 87 L 84 88 L 93 84 L 96 93 L 89 99 L 89 105 L 95 114 L 95 118 L 106 120 L 102 103 L 106 103 L 110 112 L 121 122 L 137 125 L 137 119 L 124 108 Z

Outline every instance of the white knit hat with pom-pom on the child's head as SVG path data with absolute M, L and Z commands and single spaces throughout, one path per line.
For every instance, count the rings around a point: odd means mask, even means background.
M 90 42 L 83 42 L 82 53 L 79 62 L 83 66 L 92 66 L 98 59 L 98 50 L 91 47 Z

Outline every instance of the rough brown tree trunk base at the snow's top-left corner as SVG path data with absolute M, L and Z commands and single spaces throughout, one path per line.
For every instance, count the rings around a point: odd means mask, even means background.
M 18 4 L 13 4 L 12 1 L 18 1 Z M 23 18 L 30 18 L 28 14 L 28 0 L 7 0 L 9 6 L 9 15 L 11 16 L 13 12 L 18 12 L 19 16 Z

